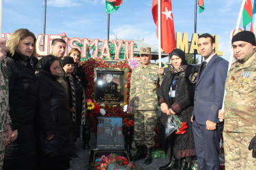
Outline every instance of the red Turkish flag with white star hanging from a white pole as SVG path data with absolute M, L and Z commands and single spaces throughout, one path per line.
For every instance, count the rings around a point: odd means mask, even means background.
M 174 24 L 173 24 L 173 12 L 171 10 L 171 0 L 160 0 L 161 9 L 161 48 L 166 54 L 169 54 L 176 48 Z M 152 2 L 152 15 L 156 27 L 158 27 L 158 0 Z M 158 28 L 156 31 L 158 37 Z

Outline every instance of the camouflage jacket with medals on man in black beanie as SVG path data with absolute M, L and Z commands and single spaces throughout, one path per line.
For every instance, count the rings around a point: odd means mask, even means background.
M 225 84 L 225 131 L 256 129 L 256 53 L 231 65 Z

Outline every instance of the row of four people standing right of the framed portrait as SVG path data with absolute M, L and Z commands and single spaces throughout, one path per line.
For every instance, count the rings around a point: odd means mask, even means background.
M 212 35 L 199 35 L 197 46 L 204 59 L 199 70 L 188 65 L 182 50 L 175 49 L 169 54 L 171 67 L 165 75 L 162 68 L 150 63 L 150 48 L 141 48 L 142 65 L 132 71 L 130 85 L 130 111 L 134 114 L 138 148 L 133 159 L 145 158 L 145 164 L 152 163 L 158 104 L 162 111 L 158 142 L 170 158 L 160 170 L 191 169 L 195 158 L 198 169 L 220 169 L 223 124 L 225 169 L 256 169 L 255 35 L 242 31 L 233 36 L 236 61 L 228 75 L 229 63 L 214 52 Z M 167 135 L 171 115 L 186 122 L 186 133 Z

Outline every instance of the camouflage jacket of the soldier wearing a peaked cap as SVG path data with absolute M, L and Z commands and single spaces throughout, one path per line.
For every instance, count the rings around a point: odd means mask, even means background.
M 164 75 L 158 74 L 158 66 L 140 65 L 132 71 L 130 80 L 130 107 L 138 110 L 156 109 L 157 90 Z

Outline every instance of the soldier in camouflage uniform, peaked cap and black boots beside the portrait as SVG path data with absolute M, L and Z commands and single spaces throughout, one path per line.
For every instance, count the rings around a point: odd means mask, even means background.
M 144 163 L 152 163 L 151 152 L 154 147 L 154 128 L 156 126 L 156 105 L 158 86 L 163 80 L 164 69 L 150 63 L 151 48 L 141 48 L 142 65 L 132 71 L 130 80 L 130 111 L 134 114 L 134 140 L 138 152 L 134 160 L 145 158 L 144 146 L 147 146 L 147 156 Z

